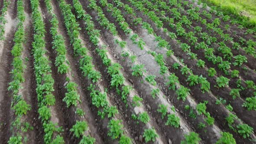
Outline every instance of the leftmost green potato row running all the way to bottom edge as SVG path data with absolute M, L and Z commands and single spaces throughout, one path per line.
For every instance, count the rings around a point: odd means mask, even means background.
M 24 70 L 26 69 L 26 65 L 24 64 L 25 62 L 22 57 L 24 49 L 23 44 L 25 42 L 25 31 L 23 26 L 25 14 L 22 0 L 17 1 L 17 17 L 17 31 L 14 35 L 14 46 L 11 50 L 11 54 L 13 56 L 13 69 L 11 71 L 13 80 L 9 83 L 8 87 L 8 91 L 12 92 L 13 100 L 11 106 L 15 114 L 15 118 L 11 124 L 13 134 L 8 141 L 9 144 L 26 142 L 27 137 L 24 133 L 33 129 L 30 123 L 26 122 L 25 118 L 27 112 L 31 110 L 31 105 L 27 104 L 23 98 L 23 94 L 21 93 L 21 89 L 23 88 L 22 83 L 25 82 Z

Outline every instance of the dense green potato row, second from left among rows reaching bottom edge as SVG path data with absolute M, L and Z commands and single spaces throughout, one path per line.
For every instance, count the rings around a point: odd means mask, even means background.
M 34 56 L 34 67 L 36 75 L 36 93 L 38 100 L 38 112 L 39 118 L 41 118 L 44 128 L 44 142 L 46 144 L 64 143 L 61 132 L 62 127 L 59 127 L 58 123 L 51 121 L 52 108 L 55 105 L 55 96 L 52 94 L 54 91 L 54 79 L 51 75 L 51 67 L 49 65 L 49 59 L 45 56 L 45 26 L 41 13 L 39 11 L 39 0 L 31 0 L 32 7 L 32 19 L 34 26 L 34 40 L 33 56 Z

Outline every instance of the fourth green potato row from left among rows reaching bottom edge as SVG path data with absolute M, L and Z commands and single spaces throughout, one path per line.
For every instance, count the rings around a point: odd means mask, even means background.
M 106 92 L 102 93 L 100 90 L 97 90 L 96 82 L 98 82 L 98 80 L 101 78 L 101 74 L 94 69 L 92 57 L 88 55 L 88 49 L 82 46 L 82 40 L 79 39 L 79 24 L 76 22 L 75 15 L 73 15 L 71 12 L 72 7 L 66 4 L 64 0 L 59 0 L 59 5 L 64 16 L 64 23 L 68 30 L 75 55 L 79 56 L 80 58 L 80 69 L 82 70 L 84 76 L 93 82 L 93 84 L 88 87 L 89 91 L 91 92 L 90 96 L 92 98 L 92 105 L 100 108 L 98 115 L 100 115 L 102 118 L 107 115 L 107 117 L 110 119 L 108 122 L 108 136 L 112 139 L 120 138 L 119 142 L 131 141 L 130 138 L 124 134 L 124 126 L 121 124 L 121 120 L 115 118 L 115 115 L 118 114 L 118 110 L 115 106 L 110 106 L 107 100 Z

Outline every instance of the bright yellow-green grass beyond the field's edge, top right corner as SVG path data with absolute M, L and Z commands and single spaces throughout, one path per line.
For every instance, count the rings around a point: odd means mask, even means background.
M 224 14 L 233 15 L 243 26 L 256 27 L 256 0 L 201 0 L 217 6 Z

